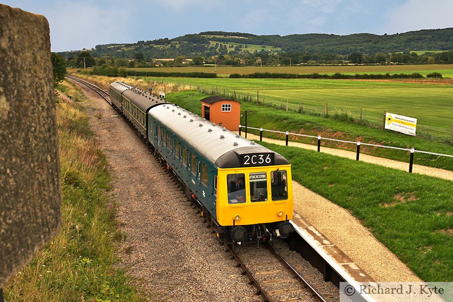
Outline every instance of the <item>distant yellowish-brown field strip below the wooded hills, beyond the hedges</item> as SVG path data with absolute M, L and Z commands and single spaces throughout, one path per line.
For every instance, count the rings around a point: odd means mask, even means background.
M 222 77 L 227 77 L 232 73 L 254 73 L 254 72 L 282 72 L 282 73 L 327 73 L 335 72 L 345 74 L 355 73 L 387 73 L 389 65 L 359 65 L 359 66 L 214 66 L 209 67 L 146 67 L 146 68 L 128 68 L 140 71 L 161 71 L 161 72 L 215 72 Z M 431 72 L 440 72 L 443 77 L 453 77 L 453 64 L 425 64 L 425 65 L 392 65 L 390 73 L 413 73 L 419 72 L 422 75 Z

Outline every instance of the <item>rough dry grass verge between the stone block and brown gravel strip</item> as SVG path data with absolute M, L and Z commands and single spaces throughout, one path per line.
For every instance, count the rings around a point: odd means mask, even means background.
M 139 301 L 131 277 L 118 269 L 110 175 L 74 86 L 58 88 L 57 122 L 63 223 L 60 233 L 5 287 L 7 301 Z

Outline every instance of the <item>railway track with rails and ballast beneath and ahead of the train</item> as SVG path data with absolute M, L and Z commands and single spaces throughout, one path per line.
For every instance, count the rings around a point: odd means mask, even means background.
M 103 89 L 75 77 L 67 76 L 67 78 L 94 90 L 112 105 L 110 100 L 106 97 L 109 96 L 109 94 Z M 129 125 L 131 124 L 129 123 Z M 154 154 L 156 160 L 167 170 L 168 175 L 174 179 L 174 182 L 179 183 L 181 187 L 180 180 L 174 173 L 171 173 L 168 170 L 168 167 L 161 161 L 154 149 L 146 143 L 145 139 L 143 139 L 133 127 L 132 129 L 147 145 L 149 152 Z M 198 213 L 203 211 L 203 209 L 200 208 L 200 204 L 195 200 L 189 199 L 189 202 L 192 203 L 191 206 L 193 208 L 197 209 Z M 209 223 L 206 218 L 204 218 L 204 221 Z M 212 229 L 212 233 L 215 234 L 216 231 L 211 223 L 209 223 L 208 228 L 209 227 Z M 221 240 L 219 240 L 219 242 L 224 246 L 225 252 L 230 253 L 231 259 L 234 260 L 236 266 L 240 268 L 241 275 L 246 275 L 248 277 L 249 284 L 255 286 L 257 289 L 256 294 L 261 295 L 264 301 L 326 301 L 331 300 L 331 298 L 335 296 L 332 290 L 324 290 L 321 294 L 314 285 L 310 284 L 308 280 L 306 280 L 306 278 L 304 278 L 303 275 L 301 275 L 293 265 L 281 255 L 281 250 L 288 250 L 288 247 L 283 240 L 277 239 L 272 242 L 272 244 L 267 242 L 261 243 L 260 249 L 256 249 L 253 245 L 233 245 L 231 242 Z M 247 253 L 241 253 L 241 250 L 244 251 L 245 247 L 247 248 Z M 300 255 L 298 255 L 298 257 L 300 257 Z M 321 289 L 324 288 L 323 285 L 319 284 L 318 287 Z M 338 289 L 336 288 L 336 290 Z

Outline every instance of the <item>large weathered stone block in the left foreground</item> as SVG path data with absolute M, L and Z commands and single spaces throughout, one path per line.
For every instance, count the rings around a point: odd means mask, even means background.
M 44 16 L 0 4 L 0 287 L 61 225 L 60 168 Z

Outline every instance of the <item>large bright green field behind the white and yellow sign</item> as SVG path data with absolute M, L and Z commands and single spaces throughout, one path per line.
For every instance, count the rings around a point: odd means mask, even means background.
M 382 125 L 384 110 L 387 112 L 417 118 L 418 135 L 451 137 L 453 124 L 453 85 L 396 83 L 354 80 L 294 80 L 294 79 L 188 79 L 159 78 L 157 82 L 191 84 L 208 90 L 216 89 L 218 94 L 234 93 L 238 99 L 247 94 L 256 101 L 273 104 L 305 113 L 324 112 L 328 103 L 329 114 L 348 114 L 375 125 Z M 260 126 L 260 125 L 255 125 Z

